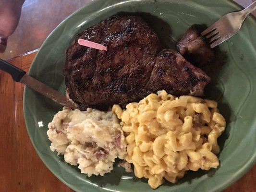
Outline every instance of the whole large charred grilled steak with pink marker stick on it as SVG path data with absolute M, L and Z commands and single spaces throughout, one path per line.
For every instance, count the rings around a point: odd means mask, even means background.
M 108 51 L 80 46 L 78 38 Z M 160 51 L 156 33 L 138 16 L 111 17 L 80 33 L 66 52 L 68 96 L 81 110 L 124 106 L 165 89 L 201 96 L 209 77 L 179 53 Z

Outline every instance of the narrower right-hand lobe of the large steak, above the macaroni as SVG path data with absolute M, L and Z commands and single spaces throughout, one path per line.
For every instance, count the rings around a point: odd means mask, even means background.
M 151 92 L 165 89 L 176 96 L 202 96 L 210 78 L 201 69 L 169 49 L 162 50 L 156 59 L 146 89 Z

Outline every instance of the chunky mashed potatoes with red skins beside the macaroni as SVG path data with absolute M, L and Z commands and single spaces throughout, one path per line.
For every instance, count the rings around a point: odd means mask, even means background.
M 124 159 L 126 143 L 119 120 L 112 111 L 63 108 L 48 125 L 51 151 L 79 165 L 88 176 L 104 175 L 113 169 L 115 158 Z

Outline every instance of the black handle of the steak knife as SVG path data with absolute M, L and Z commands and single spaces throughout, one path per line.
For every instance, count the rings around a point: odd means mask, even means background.
M 11 63 L 8 63 L 5 60 L 0 59 L 0 70 L 4 72 L 8 72 L 10 75 L 12 75 L 12 79 L 16 82 L 19 82 L 21 78 L 24 76 L 26 73 L 22 69 L 15 67 Z

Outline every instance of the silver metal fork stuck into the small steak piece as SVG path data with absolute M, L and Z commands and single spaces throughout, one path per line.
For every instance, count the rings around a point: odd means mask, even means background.
M 235 35 L 241 28 L 247 15 L 255 9 L 256 1 L 240 12 L 230 12 L 204 30 L 201 36 L 207 39 L 210 48 L 214 48 Z

